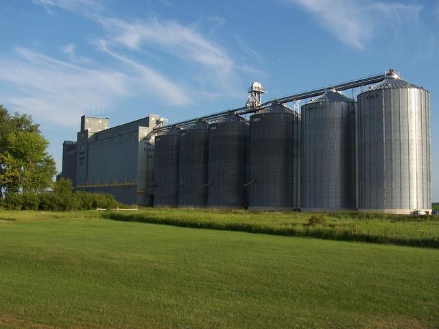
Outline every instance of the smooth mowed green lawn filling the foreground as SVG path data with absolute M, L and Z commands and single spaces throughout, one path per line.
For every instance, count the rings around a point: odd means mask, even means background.
M 1 221 L 0 328 L 439 328 L 439 249 Z

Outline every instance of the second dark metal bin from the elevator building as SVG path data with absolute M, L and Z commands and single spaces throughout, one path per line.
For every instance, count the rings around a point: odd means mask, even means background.
M 179 207 L 207 205 L 209 124 L 197 121 L 180 133 Z

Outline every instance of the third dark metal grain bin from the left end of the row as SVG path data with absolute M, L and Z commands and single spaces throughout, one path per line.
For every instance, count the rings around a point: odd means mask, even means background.
M 248 134 L 248 123 L 235 114 L 209 125 L 208 206 L 246 206 Z

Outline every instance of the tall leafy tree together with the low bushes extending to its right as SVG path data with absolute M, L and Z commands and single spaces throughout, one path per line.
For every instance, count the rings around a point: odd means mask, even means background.
M 0 105 L 0 205 L 8 209 L 76 210 L 116 208 L 111 195 L 74 192 L 70 180 L 54 182 L 49 141 L 27 114 Z

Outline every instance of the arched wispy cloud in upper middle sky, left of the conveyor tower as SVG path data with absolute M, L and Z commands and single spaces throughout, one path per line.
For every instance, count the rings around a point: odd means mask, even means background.
M 184 77 L 191 99 L 198 99 L 200 91 L 212 88 L 219 94 L 236 95 L 241 66 L 195 26 L 158 19 L 122 21 L 101 17 L 98 21 L 106 30 L 107 45 L 120 54 L 162 53 L 173 63 L 182 62 L 182 71 L 191 71 L 191 75 Z

